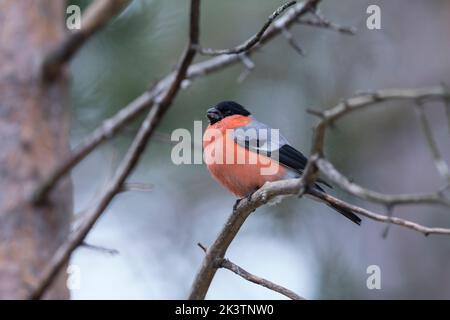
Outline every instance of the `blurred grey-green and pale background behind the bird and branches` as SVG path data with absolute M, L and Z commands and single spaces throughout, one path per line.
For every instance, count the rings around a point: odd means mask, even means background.
M 226 48 L 246 40 L 284 1 L 207 0 L 201 9 L 201 43 Z M 71 1 L 82 8 L 89 1 Z M 381 8 L 381 30 L 368 30 L 366 9 Z M 234 197 L 205 165 L 171 162 L 172 145 L 161 137 L 193 122 L 221 100 L 236 100 L 260 121 L 282 128 L 306 154 L 325 109 L 358 91 L 450 83 L 450 1 L 323 1 L 329 20 L 357 28 L 355 36 L 297 25 L 300 56 L 278 37 L 252 56 L 255 70 L 241 83 L 241 64 L 195 80 L 177 96 L 129 181 L 151 192 L 118 195 L 87 242 L 117 255 L 79 248 L 71 260 L 81 270 L 74 299 L 183 299 L 203 252 L 231 212 Z M 72 145 L 115 114 L 176 64 L 187 41 L 189 1 L 135 0 L 95 35 L 71 64 Z M 204 57 L 197 57 L 201 61 Z M 450 159 L 449 128 L 441 103 L 426 108 L 434 134 Z M 130 124 L 73 171 L 76 211 L 91 206 L 130 145 Z M 158 138 L 159 137 L 159 138 Z M 443 181 L 409 103 L 354 113 L 329 131 L 326 155 L 362 186 L 383 193 L 437 190 Z M 385 208 L 331 191 L 376 212 Z M 395 215 L 427 226 L 450 226 L 448 208 L 398 207 Z M 308 299 L 450 299 L 450 240 L 424 237 L 363 219 L 358 227 L 309 199 L 288 198 L 258 209 L 233 241 L 227 257 L 244 269 Z M 381 269 L 381 289 L 366 286 L 367 267 Z M 209 299 L 283 299 L 219 270 Z

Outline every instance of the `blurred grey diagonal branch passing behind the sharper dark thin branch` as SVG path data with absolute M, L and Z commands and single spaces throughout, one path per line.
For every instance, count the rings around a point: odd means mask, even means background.
M 262 36 L 259 45 L 250 48 L 246 55 L 257 51 L 262 45 L 268 43 L 283 30 L 288 29 L 299 17 L 306 14 L 309 8 L 317 5 L 320 0 L 307 0 L 296 4 L 292 10 L 274 23 Z M 235 63 L 241 62 L 241 54 L 221 55 L 209 60 L 191 65 L 187 71 L 186 79 L 193 80 L 220 71 Z M 73 151 L 69 158 L 58 164 L 48 177 L 41 181 L 31 195 L 33 204 L 44 204 L 50 191 L 56 186 L 59 180 L 67 175 L 81 160 L 89 155 L 97 146 L 104 141 L 114 137 L 127 123 L 136 119 L 143 111 L 152 107 L 157 96 L 167 90 L 175 77 L 171 73 L 156 83 L 148 92 L 144 92 L 129 105 L 121 109 L 116 115 L 105 120 L 100 127 L 89 134 L 82 143 Z

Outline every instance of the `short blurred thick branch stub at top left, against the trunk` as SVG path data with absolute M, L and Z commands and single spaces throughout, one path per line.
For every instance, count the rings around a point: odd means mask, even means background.
M 55 80 L 83 44 L 115 17 L 131 0 L 95 0 L 82 17 L 82 28 L 70 33 L 45 57 L 42 64 L 44 81 Z

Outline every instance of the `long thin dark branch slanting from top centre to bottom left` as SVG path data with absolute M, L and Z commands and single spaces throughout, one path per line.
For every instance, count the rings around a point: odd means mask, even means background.
M 155 127 L 158 125 L 160 119 L 168 110 L 178 93 L 181 82 L 186 76 L 188 67 L 194 59 L 196 54 L 194 46 L 198 43 L 199 37 L 199 19 L 200 0 L 191 0 L 189 43 L 181 56 L 172 83 L 167 91 L 161 96 L 156 97 L 156 105 L 150 110 L 142 123 L 136 138 L 119 165 L 114 178 L 103 191 L 98 204 L 86 212 L 84 221 L 82 221 L 80 226 L 70 234 L 69 238 L 56 251 L 47 267 L 41 273 L 36 286 L 30 291 L 28 298 L 39 299 L 42 297 L 59 270 L 69 259 L 72 252 L 84 241 L 98 218 L 102 215 L 114 196 L 120 191 L 123 183 L 135 168 Z

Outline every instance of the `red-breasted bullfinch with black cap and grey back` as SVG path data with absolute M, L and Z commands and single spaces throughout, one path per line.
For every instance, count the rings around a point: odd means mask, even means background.
M 308 159 L 278 130 L 257 121 L 243 106 L 223 101 L 209 108 L 203 135 L 204 160 L 211 175 L 238 200 L 250 197 L 267 181 L 298 178 Z M 321 199 L 330 187 L 318 179 L 307 194 Z M 323 201 L 323 199 L 322 199 Z M 346 208 L 326 202 L 356 224 L 361 219 Z

